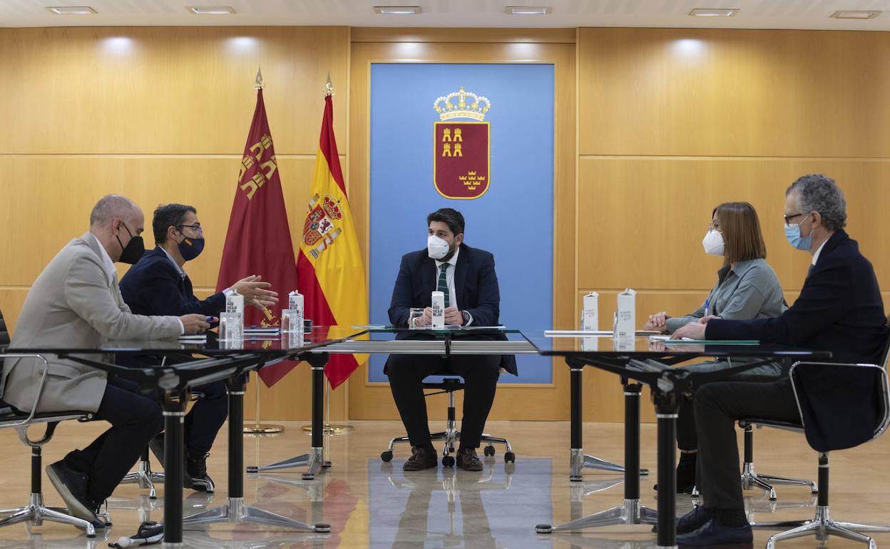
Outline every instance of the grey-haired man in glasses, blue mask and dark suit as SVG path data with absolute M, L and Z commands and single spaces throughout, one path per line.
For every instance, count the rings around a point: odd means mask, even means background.
M 887 341 L 884 303 L 875 271 L 847 236 L 845 224 L 844 194 L 834 180 L 817 174 L 799 178 L 786 191 L 785 232 L 792 246 L 813 255 L 813 264 L 794 305 L 773 319 L 701 319 L 674 336 L 785 343 L 831 351 L 836 362 L 878 364 Z M 824 392 L 821 398 L 832 394 Z M 734 424 L 742 417 L 800 422 L 790 379 L 709 383 L 694 400 L 697 484 L 704 505 L 679 519 L 677 544 L 750 543 Z

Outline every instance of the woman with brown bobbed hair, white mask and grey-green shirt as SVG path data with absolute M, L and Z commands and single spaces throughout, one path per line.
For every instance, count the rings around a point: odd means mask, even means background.
M 708 315 L 721 319 L 769 319 L 785 311 L 781 285 L 766 262 L 766 245 L 754 206 L 748 202 L 725 202 L 714 208 L 708 233 L 701 242 L 705 253 L 724 258 L 717 281 L 700 307 L 684 317 L 671 318 L 664 311 L 651 315 L 644 329 L 674 334 L 676 330 Z M 740 366 L 743 360 L 702 362 L 687 366 L 708 372 Z M 781 375 L 778 363 L 755 367 L 738 374 L 738 379 L 768 381 Z M 676 467 L 677 493 L 691 493 L 695 486 L 697 450 L 692 401 L 685 401 L 677 416 L 676 443 L 680 463 Z

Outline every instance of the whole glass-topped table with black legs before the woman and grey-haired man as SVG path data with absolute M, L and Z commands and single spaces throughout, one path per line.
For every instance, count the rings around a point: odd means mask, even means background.
M 597 367 L 620 376 L 625 394 L 624 504 L 562 525 L 539 524 L 549 534 L 613 524 L 658 524 L 657 546 L 676 547 L 676 416 L 685 395 L 708 383 L 761 366 L 775 359 L 829 359 L 811 351 L 758 342 L 673 342 L 650 335 L 615 339 L 610 335 L 570 330 L 523 331 L 542 355 L 562 357 L 571 371 L 572 480 L 579 480 L 581 450 L 581 372 Z M 742 366 L 714 372 L 692 372 L 677 364 L 700 357 L 747 359 Z M 650 386 L 658 424 L 658 512 L 640 505 L 640 415 L 642 383 Z

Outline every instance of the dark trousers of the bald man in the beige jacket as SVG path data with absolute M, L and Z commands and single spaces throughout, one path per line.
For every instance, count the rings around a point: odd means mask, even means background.
M 87 474 L 87 496 L 98 505 L 161 431 L 164 418 L 156 400 L 140 394 L 136 383 L 119 378 L 109 379 L 96 417 L 109 422 L 111 428 L 86 448 L 69 452 L 65 463 Z

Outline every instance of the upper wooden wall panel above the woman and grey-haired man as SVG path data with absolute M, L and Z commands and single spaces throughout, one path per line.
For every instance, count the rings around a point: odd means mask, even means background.
M 581 155 L 886 157 L 890 34 L 581 28 Z

